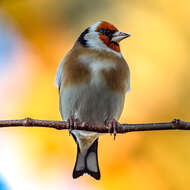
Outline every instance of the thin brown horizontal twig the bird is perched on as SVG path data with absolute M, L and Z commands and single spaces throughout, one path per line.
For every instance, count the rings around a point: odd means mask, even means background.
M 65 121 L 38 120 L 25 118 L 19 120 L 0 120 L 0 127 L 46 127 L 58 130 L 68 129 Z M 74 129 L 94 131 L 98 133 L 108 133 L 105 125 L 83 125 L 79 123 Z M 190 130 L 190 122 L 174 119 L 166 123 L 143 123 L 143 124 L 121 124 L 117 128 L 117 133 L 127 133 L 135 131 L 155 131 L 155 130 Z

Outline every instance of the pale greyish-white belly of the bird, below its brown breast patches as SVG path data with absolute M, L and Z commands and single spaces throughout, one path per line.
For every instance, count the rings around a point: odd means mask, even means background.
M 74 116 L 80 121 L 104 123 L 118 120 L 124 104 L 124 95 L 96 85 L 66 87 L 60 95 L 60 111 L 63 120 Z

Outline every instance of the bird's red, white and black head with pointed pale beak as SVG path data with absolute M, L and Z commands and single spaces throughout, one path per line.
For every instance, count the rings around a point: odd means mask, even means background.
M 84 30 L 77 41 L 87 48 L 120 53 L 119 42 L 129 36 L 108 22 L 98 21 Z

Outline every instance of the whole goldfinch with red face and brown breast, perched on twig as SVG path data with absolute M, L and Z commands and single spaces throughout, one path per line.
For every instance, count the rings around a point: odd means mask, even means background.
M 130 71 L 119 42 L 129 36 L 108 22 L 98 21 L 81 33 L 58 67 L 59 109 L 77 144 L 73 178 L 87 173 L 100 179 L 97 148 L 101 134 L 73 127 L 79 121 L 104 124 L 116 135 L 130 89 Z

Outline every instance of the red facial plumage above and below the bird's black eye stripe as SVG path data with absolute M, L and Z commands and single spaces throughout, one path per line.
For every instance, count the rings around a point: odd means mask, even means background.
M 102 21 L 98 27 L 96 28 L 96 31 L 98 32 L 100 29 L 106 29 L 106 30 L 111 30 L 111 31 L 118 31 L 118 29 L 113 26 L 112 24 Z M 111 42 L 109 36 L 104 35 L 104 34 L 99 34 L 99 39 L 109 48 L 116 52 L 120 52 L 119 45 L 117 43 Z

